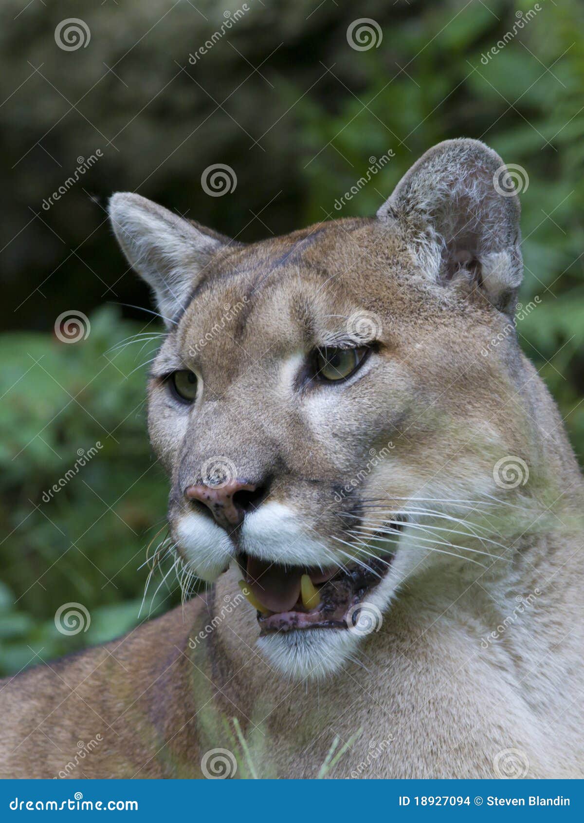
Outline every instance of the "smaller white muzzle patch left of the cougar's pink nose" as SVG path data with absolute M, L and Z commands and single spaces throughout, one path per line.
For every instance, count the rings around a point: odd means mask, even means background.
M 184 514 L 174 532 L 189 569 L 207 583 L 213 583 L 233 559 L 227 532 L 205 514 Z

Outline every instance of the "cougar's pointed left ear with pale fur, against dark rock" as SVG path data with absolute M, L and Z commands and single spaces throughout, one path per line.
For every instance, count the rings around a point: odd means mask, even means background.
M 139 194 L 114 194 L 109 219 L 127 262 L 154 291 L 167 327 L 213 255 L 232 242 Z

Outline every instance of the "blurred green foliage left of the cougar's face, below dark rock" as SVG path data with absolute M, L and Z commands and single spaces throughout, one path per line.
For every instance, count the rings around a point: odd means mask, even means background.
M 115 347 L 142 330 L 117 315 L 101 309 L 88 337 L 72 344 L 45 334 L 0 338 L 2 672 L 39 663 L 35 652 L 49 659 L 102 643 L 138 621 L 147 573 L 139 567 L 165 522 L 141 366 L 157 338 Z M 159 607 L 175 602 L 165 593 Z M 54 615 L 67 602 L 86 607 L 86 631 L 58 631 Z M 150 609 L 148 600 L 145 615 Z

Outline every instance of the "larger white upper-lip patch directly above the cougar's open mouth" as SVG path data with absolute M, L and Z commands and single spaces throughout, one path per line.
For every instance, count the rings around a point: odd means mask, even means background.
M 330 565 L 327 551 L 302 528 L 298 512 L 281 503 L 268 502 L 248 514 L 241 529 L 241 546 L 260 560 L 293 565 Z

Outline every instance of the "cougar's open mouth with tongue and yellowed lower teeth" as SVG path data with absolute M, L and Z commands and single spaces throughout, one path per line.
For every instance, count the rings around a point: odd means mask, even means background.
M 349 629 L 355 607 L 387 574 L 393 553 L 326 569 L 281 565 L 240 552 L 239 586 L 257 610 L 260 636 L 302 629 Z

